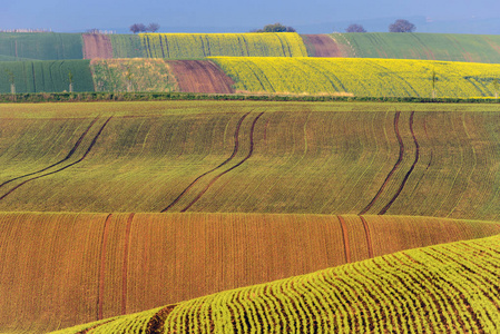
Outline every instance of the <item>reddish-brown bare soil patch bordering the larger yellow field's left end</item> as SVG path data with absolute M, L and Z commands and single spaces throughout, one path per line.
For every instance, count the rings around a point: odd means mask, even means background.
M 234 92 L 234 81 L 209 60 L 167 61 L 184 92 Z

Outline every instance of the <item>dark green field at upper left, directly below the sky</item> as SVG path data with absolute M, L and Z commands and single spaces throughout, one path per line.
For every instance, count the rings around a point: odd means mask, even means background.
M 0 56 L 3 60 L 84 59 L 80 33 L 0 32 Z

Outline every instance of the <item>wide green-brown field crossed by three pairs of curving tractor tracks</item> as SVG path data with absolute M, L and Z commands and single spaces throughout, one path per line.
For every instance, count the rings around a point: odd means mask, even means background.
M 0 120 L 4 212 L 500 217 L 497 106 L 2 105 Z

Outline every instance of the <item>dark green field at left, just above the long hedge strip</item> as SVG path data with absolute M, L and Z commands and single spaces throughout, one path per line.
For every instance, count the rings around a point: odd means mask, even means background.
M 94 91 L 89 60 L 1 61 L 0 92 Z M 71 76 L 71 77 L 70 77 Z

